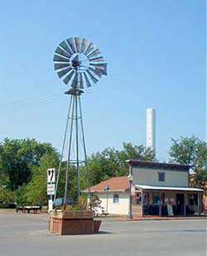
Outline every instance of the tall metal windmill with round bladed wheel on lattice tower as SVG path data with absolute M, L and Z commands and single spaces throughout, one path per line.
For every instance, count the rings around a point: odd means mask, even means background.
M 70 105 L 66 119 L 65 134 L 60 155 L 60 165 L 57 173 L 55 198 L 58 189 L 60 169 L 64 157 L 65 147 L 68 142 L 67 165 L 65 173 L 66 203 L 69 171 L 71 165 L 75 166 L 78 177 L 78 200 L 79 200 L 79 167 L 84 162 L 87 168 L 87 154 L 84 138 L 84 123 L 80 97 L 84 89 L 96 84 L 102 75 L 107 75 L 107 63 L 101 56 L 98 46 L 81 37 L 70 37 L 57 46 L 54 54 L 54 69 L 59 78 L 68 85 L 65 94 L 70 95 Z M 79 129 L 81 138 L 79 138 Z M 75 159 L 71 159 L 72 139 L 75 136 Z M 79 142 L 82 141 L 84 149 L 84 161 L 79 159 Z M 90 194 L 90 191 L 89 191 Z M 55 200 L 55 199 L 54 199 Z

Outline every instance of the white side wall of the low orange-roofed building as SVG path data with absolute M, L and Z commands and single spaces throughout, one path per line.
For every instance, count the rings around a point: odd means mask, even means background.
M 118 194 L 119 203 L 113 204 L 113 195 Z M 101 206 L 106 211 L 107 199 L 105 193 L 97 193 L 99 200 L 101 200 Z M 129 195 L 123 192 L 108 192 L 108 213 L 113 215 L 128 215 L 129 211 Z

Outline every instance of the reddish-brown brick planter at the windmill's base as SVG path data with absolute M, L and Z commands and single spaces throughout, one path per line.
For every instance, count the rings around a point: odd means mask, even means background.
M 99 233 L 101 220 L 93 219 L 93 211 L 53 211 L 49 219 L 49 231 L 55 234 Z

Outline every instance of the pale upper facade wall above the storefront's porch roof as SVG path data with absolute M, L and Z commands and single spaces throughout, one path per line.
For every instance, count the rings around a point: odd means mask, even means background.
M 166 181 L 158 180 L 158 172 L 166 173 Z M 133 184 L 149 186 L 188 186 L 188 171 L 170 171 L 132 167 Z

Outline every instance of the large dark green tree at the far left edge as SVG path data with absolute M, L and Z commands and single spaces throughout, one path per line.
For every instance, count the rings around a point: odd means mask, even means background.
M 0 184 L 7 181 L 12 191 L 31 181 L 31 168 L 39 166 L 41 157 L 56 152 L 50 143 L 36 139 L 9 139 L 0 143 Z

